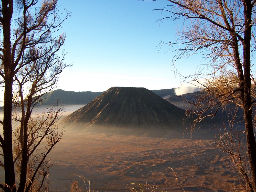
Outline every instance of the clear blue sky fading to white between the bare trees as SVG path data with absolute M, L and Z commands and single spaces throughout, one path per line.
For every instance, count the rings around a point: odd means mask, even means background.
M 59 9 L 72 12 L 64 23 L 65 62 L 58 88 L 66 91 L 105 91 L 113 86 L 169 89 L 181 86 L 172 67 L 174 54 L 157 46 L 175 40 L 178 22 L 157 19 L 166 0 L 59 0 Z M 160 49 L 160 50 L 159 50 Z M 199 58 L 177 63 L 183 75 L 194 74 Z M 192 64 L 193 63 L 193 64 Z

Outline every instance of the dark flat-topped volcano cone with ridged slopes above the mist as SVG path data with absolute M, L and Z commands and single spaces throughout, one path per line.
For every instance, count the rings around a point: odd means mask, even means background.
M 185 110 L 145 88 L 112 87 L 62 120 L 68 128 L 184 127 Z

